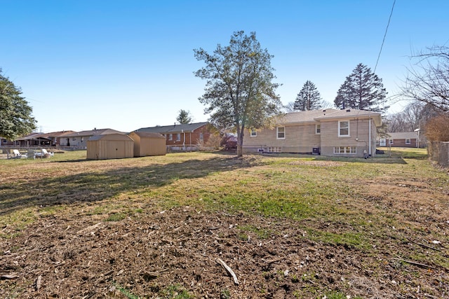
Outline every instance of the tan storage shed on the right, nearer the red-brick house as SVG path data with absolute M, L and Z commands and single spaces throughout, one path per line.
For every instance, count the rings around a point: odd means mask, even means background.
M 159 133 L 130 132 L 129 136 L 134 140 L 134 157 L 166 154 L 166 137 Z

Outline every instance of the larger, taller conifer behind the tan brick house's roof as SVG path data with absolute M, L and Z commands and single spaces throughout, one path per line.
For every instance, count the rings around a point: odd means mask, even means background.
M 389 108 L 385 106 L 386 102 L 387 91 L 382 79 L 366 65 L 358 64 L 340 86 L 334 104 L 340 109 L 352 108 L 383 113 Z

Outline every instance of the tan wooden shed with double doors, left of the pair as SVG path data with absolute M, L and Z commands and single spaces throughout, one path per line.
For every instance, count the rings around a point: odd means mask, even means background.
M 133 158 L 134 141 L 126 134 L 95 135 L 87 141 L 87 158 Z

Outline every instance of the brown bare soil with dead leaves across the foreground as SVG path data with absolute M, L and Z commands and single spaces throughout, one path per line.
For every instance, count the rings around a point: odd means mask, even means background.
M 313 163 L 332 167 L 336 162 Z M 434 202 L 435 192 L 447 190 L 406 179 L 366 188 L 366 202 L 415 215 L 423 230 L 410 239 L 385 235 L 382 248 L 368 251 L 307 237 L 304 226 L 339 229 L 338 223 L 320 219 L 189 206 L 161 210 L 147 202 L 142 211 L 105 221 L 104 215 L 86 214 L 86 204 L 80 203 L 70 213 L 42 215 L 20 235 L 0 239 L 0 297 L 449 298 L 449 270 L 441 263 L 415 263 L 395 254 L 438 251 L 449 258 L 449 244 L 431 238 L 434 230 L 449 231 L 447 205 Z M 417 189 L 424 190 L 419 197 Z M 357 207 L 363 209 L 363 202 L 354 203 Z M 241 229 L 246 226 L 255 229 Z

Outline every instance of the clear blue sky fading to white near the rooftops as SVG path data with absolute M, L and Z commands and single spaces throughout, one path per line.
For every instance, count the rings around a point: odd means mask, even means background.
M 208 120 L 194 49 L 256 32 L 271 55 L 283 104 L 305 81 L 333 103 L 358 63 L 375 69 L 394 0 L 0 0 L 0 68 L 22 88 L 41 132 Z M 449 1 L 396 0 L 375 74 L 389 96 L 409 56 L 448 46 Z M 392 104 L 390 113 L 405 103 Z

